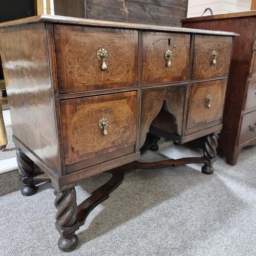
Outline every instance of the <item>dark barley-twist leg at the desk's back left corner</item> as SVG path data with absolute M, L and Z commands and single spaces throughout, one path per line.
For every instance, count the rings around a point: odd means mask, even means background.
M 27 157 L 20 149 L 16 151 L 19 179 L 23 182 L 22 195 L 32 196 L 36 193 L 37 187 L 34 182 L 34 162 Z

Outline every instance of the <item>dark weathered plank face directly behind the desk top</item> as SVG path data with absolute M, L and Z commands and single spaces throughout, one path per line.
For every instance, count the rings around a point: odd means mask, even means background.
M 178 4 L 175 7 L 173 5 L 168 7 L 166 1 L 164 1 L 165 6 L 154 5 L 154 1 L 148 2 L 150 4 L 141 1 L 109 0 L 108 5 L 102 5 L 101 0 L 89 1 L 87 17 L 115 22 L 181 27 L 180 19 L 186 17 L 186 7 Z

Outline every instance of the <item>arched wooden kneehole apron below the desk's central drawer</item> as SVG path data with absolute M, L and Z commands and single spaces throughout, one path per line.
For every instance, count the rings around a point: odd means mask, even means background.
M 140 147 L 142 147 L 145 139 L 146 133 L 150 129 L 152 121 L 153 126 L 163 129 L 166 132 L 172 133 L 170 127 L 174 127 L 173 120 L 175 120 L 175 131 L 178 135 L 182 135 L 182 123 L 183 114 L 185 108 L 185 96 L 186 96 L 186 85 L 172 86 L 166 88 L 142 90 L 141 95 L 141 117 L 140 117 Z M 164 120 L 166 125 L 160 126 L 157 121 L 163 121 L 162 115 L 158 116 L 163 104 L 166 104 L 166 109 L 168 111 L 168 119 Z M 166 112 L 166 111 L 165 111 Z

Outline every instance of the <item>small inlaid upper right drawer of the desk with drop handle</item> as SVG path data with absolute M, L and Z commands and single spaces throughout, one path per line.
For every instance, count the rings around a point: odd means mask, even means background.
M 232 49 L 232 37 L 195 36 L 192 79 L 227 76 Z

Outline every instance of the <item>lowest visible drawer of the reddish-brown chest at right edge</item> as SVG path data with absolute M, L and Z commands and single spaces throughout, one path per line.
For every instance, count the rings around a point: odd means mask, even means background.
M 256 111 L 242 115 L 239 145 L 256 138 Z M 255 130 L 255 132 L 254 132 Z

